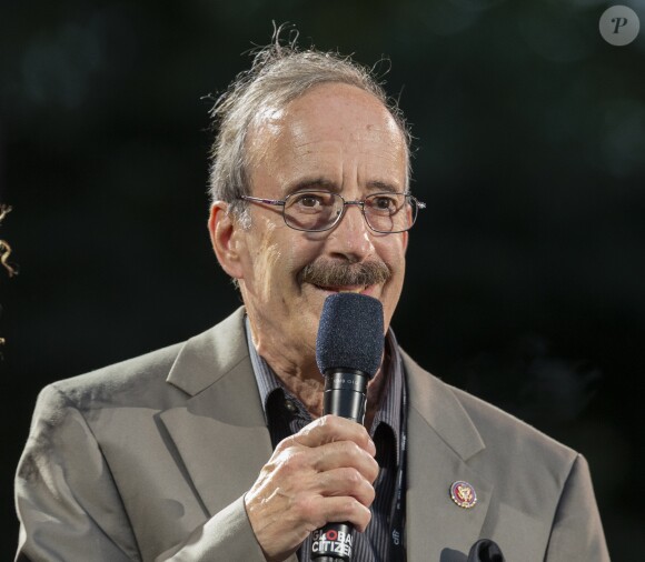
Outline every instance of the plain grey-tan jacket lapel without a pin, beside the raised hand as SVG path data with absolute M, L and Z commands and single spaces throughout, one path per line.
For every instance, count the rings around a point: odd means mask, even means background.
M 186 342 L 168 382 L 190 398 L 160 421 L 210 515 L 244 494 L 271 455 L 239 310 Z

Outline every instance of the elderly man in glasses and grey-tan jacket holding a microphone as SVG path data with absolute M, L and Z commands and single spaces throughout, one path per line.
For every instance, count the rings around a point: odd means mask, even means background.
M 244 308 L 187 342 L 46 388 L 17 476 L 20 561 L 606 561 L 585 460 L 421 370 L 389 329 L 409 136 L 361 67 L 276 41 L 214 109 L 209 231 Z M 365 426 L 322 415 L 326 298 L 378 299 Z

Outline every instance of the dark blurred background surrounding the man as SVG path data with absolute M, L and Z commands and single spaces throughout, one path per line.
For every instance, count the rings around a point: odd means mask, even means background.
M 2 521 L 38 390 L 182 340 L 239 305 L 206 231 L 210 101 L 265 44 L 378 68 L 413 123 L 394 320 L 424 367 L 582 451 L 614 561 L 644 538 L 645 6 L 494 1 L 3 1 Z M 10 560 L 17 522 L 6 525 Z

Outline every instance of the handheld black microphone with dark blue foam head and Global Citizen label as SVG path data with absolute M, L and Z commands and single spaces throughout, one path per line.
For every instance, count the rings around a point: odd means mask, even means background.
M 316 362 L 325 374 L 324 411 L 363 424 L 367 383 L 383 359 L 383 305 L 358 293 L 335 293 L 325 300 Z M 314 531 L 311 559 L 316 562 L 351 560 L 354 526 L 328 523 Z

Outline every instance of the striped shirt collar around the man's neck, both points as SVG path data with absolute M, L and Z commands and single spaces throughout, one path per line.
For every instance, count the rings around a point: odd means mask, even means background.
M 258 384 L 258 391 L 260 393 L 260 401 L 262 404 L 262 410 L 265 412 L 265 420 L 267 424 L 269 423 L 267 415 L 267 403 L 269 397 L 274 392 L 281 391 L 285 397 L 292 400 L 300 411 L 306 411 L 301 402 L 284 387 L 280 379 L 269 364 L 264 360 L 264 358 L 258 353 L 251 338 L 251 330 L 249 325 L 248 317 L 245 317 L 245 330 L 247 335 L 247 342 L 249 347 L 249 355 L 251 360 L 251 365 L 254 368 L 254 373 L 256 375 L 256 382 Z M 381 424 L 389 426 L 394 433 L 396 441 L 396 453 L 397 453 L 397 464 L 399 462 L 399 451 L 400 451 L 400 432 L 401 432 L 401 403 L 403 393 L 405 392 L 404 384 L 404 369 L 403 369 L 403 358 L 400 355 L 396 337 L 391 328 L 388 329 L 385 337 L 385 352 L 386 357 L 389 358 L 387 364 L 387 377 L 386 390 L 383 395 L 383 402 L 378 408 L 376 415 L 374 417 L 374 422 L 371 424 L 371 435 L 376 429 Z

